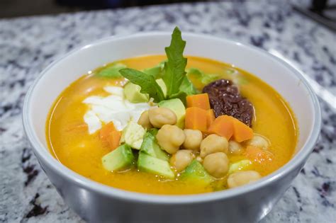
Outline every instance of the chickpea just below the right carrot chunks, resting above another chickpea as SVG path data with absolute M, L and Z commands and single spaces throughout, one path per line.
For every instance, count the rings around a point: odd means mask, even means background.
M 208 154 L 213 154 L 216 151 L 228 153 L 228 140 L 219 135 L 208 135 L 201 142 L 201 157 L 204 158 Z

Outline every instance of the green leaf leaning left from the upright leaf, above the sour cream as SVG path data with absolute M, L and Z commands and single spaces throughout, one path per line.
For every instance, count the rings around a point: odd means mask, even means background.
M 164 94 L 159 84 L 155 81 L 154 76 L 139 72 L 136 69 L 121 69 L 119 71 L 123 77 L 133 84 L 141 87 L 141 93 L 148 93 L 155 102 L 164 100 Z

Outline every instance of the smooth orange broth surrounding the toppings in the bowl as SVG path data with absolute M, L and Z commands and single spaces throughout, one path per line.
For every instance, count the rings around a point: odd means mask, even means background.
M 225 79 L 232 79 L 240 88 L 242 96 L 248 98 L 254 105 L 255 117 L 252 129 L 269 139 L 271 142 L 269 151 L 274 154 L 274 159 L 265 164 L 254 163 L 251 169 L 258 171 L 262 176 L 267 176 L 286 164 L 296 147 L 298 130 L 291 108 L 279 93 L 256 76 L 230 64 L 201 57 L 187 58 L 187 69 L 194 67 L 207 74 L 220 74 Z M 164 59 L 165 56 L 155 55 L 123 59 L 120 62 L 130 68 L 145 69 L 154 67 Z M 97 70 L 99 69 L 101 68 Z M 232 71 L 235 72 L 232 74 Z M 203 88 L 203 84 L 197 83 L 196 80 L 191 81 L 196 88 L 200 90 Z M 125 84 L 123 79 L 106 79 L 94 74 L 85 74 L 60 94 L 50 110 L 45 129 L 48 146 L 55 159 L 86 178 L 123 190 L 177 195 L 226 189 L 225 178 L 204 186 L 167 180 L 138 171 L 136 168 L 121 173 L 111 173 L 103 168 L 101 157 L 111 149 L 101 142 L 99 131 L 89 135 L 86 125 L 83 125 L 87 105 L 82 101 L 88 96 L 107 96 L 108 93 L 103 91 L 104 86 L 123 86 L 123 84 Z M 230 162 L 246 159 L 244 155 L 228 154 L 228 157 Z

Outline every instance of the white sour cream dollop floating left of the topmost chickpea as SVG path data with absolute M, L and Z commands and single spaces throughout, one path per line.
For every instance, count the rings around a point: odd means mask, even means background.
M 100 130 L 102 123 L 108 122 L 113 122 L 116 129 L 121 131 L 129 121 L 138 122 L 141 113 L 150 108 L 149 103 L 130 103 L 124 97 L 122 87 L 106 86 L 103 89 L 111 95 L 89 96 L 83 101 L 89 107 L 84 114 L 89 134 Z

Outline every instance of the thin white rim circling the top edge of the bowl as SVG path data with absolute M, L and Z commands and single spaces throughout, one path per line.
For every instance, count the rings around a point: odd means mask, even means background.
M 35 131 L 33 130 L 33 125 L 30 122 L 30 118 L 28 115 L 28 111 L 30 110 L 30 101 L 32 98 L 32 93 L 35 89 L 35 86 L 38 85 L 40 79 L 47 73 L 49 70 L 54 67 L 55 64 L 62 62 L 63 60 L 67 59 L 69 55 L 77 53 L 81 50 L 84 50 L 88 47 L 94 47 L 95 45 L 99 45 L 104 42 L 110 41 L 118 41 L 118 40 L 127 40 L 128 38 L 144 38 L 144 37 L 153 37 L 158 35 L 171 35 L 168 32 L 145 32 L 145 33 L 135 33 L 131 35 L 113 35 L 106 38 L 102 38 L 101 40 L 96 40 L 91 44 L 84 45 L 83 47 L 78 47 L 74 50 L 71 50 L 65 55 L 61 55 L 54 62 L 49 64 L 42 72 L 38 75 L 38 77 L 33 81 L 33 84 L 28 89 L 26 93 L 25 100 L 23 102 L 23 128 L 26 132 L 26 137 L 30 142 L 30 145 L 33 148 L 35 156 L 38 156 L 38 160 L 40 159 L 43 161 L 43 164 L 47 165 L 48 168 L 51 168 L 52 171 L 55 171 L 58 175 L 62 176 L 62 178 L 66 178 L 67 181 L 74 183 L 75 185 L 85 188 L 87 190 L 94 190 L 96 193 L 101 195 L 106 195 L 111 198 L 116 198 L 119 200 L 126 200 L 130 202 L 146 202 L 146 203 L 155 203 L 155 204 L 188 204 L 188 203 L 198 203 L 198 202 L 211 202 L 215 200 L 223 200 L 227 198 L 233 198 L 237 195 L 243 195 L 246 193 L 250 193 L 252 190 L 257 190 L 259 188 L 263 188 L 264 186 L 269 185 L 270 183 L 276 181 L 276 179 L 283 178 L 287 174 L 289 174 L 294 168 L 300 166 L 302 162 L 305 162 L 310 152 L 313 150 L 313 146 L 315 142 L 318 140 L 318 136 L 320 134 L 320 125 L 321 125 L 321 112 L 320 112 L 320 104 L 318 102 L 318 98 L 315 95 L 313 89 L 311 88 L 308 81 L 304 77 L 303 72 L 298 70 L 295 67 L 292 67 L 291 64 L 288 64 L 283 59 L 271 55 L 271 53 L 267 52 L 266 50 L 262 50 L 258 47 L 255 47 L 250 44 L 245 44 L 241 42 L 237 42 L 235 40 L 230 40 L 228 38 L 220 38 L 206 34 L 196 34 L 196 33 L 182 33 L 182 36 L 192 37 L 192 38 L 206 38 L 207 40 L 216 40 L 216 41 L 224 41 L 228 42 L 233 45 L 247 47 L 251 50 L 257 51 L 263 55 L 267 55 L 274 60 L 274 62 L 281 63 L 285 67 L 287 67 L 291 74 L 295 75 L 298 79 L 301 80 L 301 83 L 308 91 L 308 96 L 310 97 L 311 102 L 313 103 L 313 129 L 310 130 L 308 139 L 306 140 L 303 147 L 281 168 L 277 169 L 273 173 L 269 174 L 268 176 L 264 176 L 260 181 L 255 183 L 250 183 L 248 185 L 244 185 L 238 188 L 232 188 L 230 190 L 220 190 L 211 193 L 200 193 L 200 194 L 193 194 L 193 195 L 155 195 L 155 194 L 147 194 L 147 193 L 138 193 L 128 190 L 123 190 L 119 188 L 113 188 L 108 185 L 103 185 L 102 183 L 98 183 L 93 181 L 89 178 L 85 178 L 84 176 L 80 175 L 72 171 L 71 169 L 67 168 L 67 166 L 63 165 L 55 159 L 48 148 L 45 148 L 43 144 L 39 141 Z

